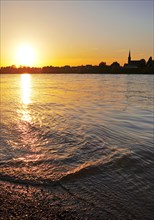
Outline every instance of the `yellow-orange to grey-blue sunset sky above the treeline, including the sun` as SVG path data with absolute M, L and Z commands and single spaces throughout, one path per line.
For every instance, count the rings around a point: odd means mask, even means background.
M 1 66 L 98 65 L 153 54 L 153 0 L 1 0 Z

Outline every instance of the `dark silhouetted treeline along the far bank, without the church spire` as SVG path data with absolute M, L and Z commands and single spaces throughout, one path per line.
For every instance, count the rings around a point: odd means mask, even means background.
M 62 67 L 54 67 L 54 66 L 45 66 L 42 68 L 39 67 L 26 67 L 20 66 L 16 67 L 14 65 L 1 67 L 1 74 L 21 74 L 21 73 L 111 73 L 111 74 L 154 74 L 154 66 L 142 66 L 138 68 L 126 68 L 120 66 L 118 62 L 113 62 L 110 66 L 106 65 L 105 62 L 101 62 L 98 66 L 95 65 L 82 65 L 82 66 L 62 66 Z

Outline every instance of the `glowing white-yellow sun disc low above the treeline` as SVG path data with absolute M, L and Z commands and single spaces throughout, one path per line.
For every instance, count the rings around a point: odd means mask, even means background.
M 35 62 L 35 52 L 30 45 L 21 45 L 16 52 L 17 63 L 23 66 L 31 66 Z

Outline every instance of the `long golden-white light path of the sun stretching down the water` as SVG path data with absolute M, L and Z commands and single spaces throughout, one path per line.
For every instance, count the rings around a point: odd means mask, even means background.
M 32 103 L 31 78 L 31 75 L 28 73 L 22 74 L 20 77 L 21 105 L 18 110 L 18 130 L 20 132 L 21 149 L 24 149 L 27 153 L 24 156 L 19 157 L 18 160 L 24 162 L 36 161 L 43 156 L 42 154 L 37 154 L 37 151 L 39 151 L 37 149 L 39 132 L 33 130 L 35 117 L 30 110 L 30 104 Z M 27 167 L 25 168 L 24 173 L 28 175 L 30 170 L 31 169 Z

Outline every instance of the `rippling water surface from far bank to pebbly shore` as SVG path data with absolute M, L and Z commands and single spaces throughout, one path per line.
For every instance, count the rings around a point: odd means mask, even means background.
M 153 80 L 1 75 L 0 180 L 62 188 L 91 219 L 153 219 Z

